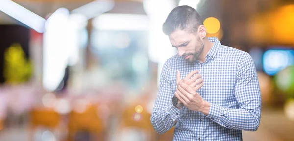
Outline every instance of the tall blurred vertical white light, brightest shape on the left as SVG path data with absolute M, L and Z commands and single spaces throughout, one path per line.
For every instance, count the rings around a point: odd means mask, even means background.
M 67 37 L 69 11 L 57 9 L 47 20 L 43 41 L 43 87 L 54 91 L 62 81 L 68 63 Z

